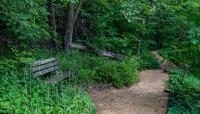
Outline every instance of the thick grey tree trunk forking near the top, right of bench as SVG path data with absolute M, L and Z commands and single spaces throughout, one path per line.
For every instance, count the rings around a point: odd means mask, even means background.
M 68 52 L 70 49 L 70 44 L 72 43 L 73 40 L 73 31 L 74 31 L 74 25 L 77 20 L 78 14 L 80 12 L 80 8 L 82 5 L 82 0 L 79 3 L 79 6 L 76 9 L 73 4 L 69 4 L 67 8 L 67 26 L 66 26 L 66 31 L 65 31 L 65 36 L 64 36 L 64 44 L 63 44 L 63 49 Z

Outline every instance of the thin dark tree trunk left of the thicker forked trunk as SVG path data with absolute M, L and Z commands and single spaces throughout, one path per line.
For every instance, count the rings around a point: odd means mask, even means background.
M 55 9 L 53 6 L 53 0 L 48 0 L 48 10 L 49 10 L 49 25 L 50 25 L 50 35 L 52 47 L 56 47 L 56 18 L 55 18 Z

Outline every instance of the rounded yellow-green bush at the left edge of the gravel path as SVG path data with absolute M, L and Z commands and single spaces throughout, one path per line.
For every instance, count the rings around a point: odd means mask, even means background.
M 136 66 L 135 59 L 123 62 L 106 62 L 97 68 L 95 80 L 112 83 L 117 88 L 132 85 L 138 80 Z

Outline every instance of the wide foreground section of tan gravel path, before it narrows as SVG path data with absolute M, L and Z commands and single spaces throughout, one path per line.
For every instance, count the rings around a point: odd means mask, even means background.
M 90 89 L 98 114 L 165 114 L 168 75 L 162 70 L 145 70 L 138 84 L 122 89 Z

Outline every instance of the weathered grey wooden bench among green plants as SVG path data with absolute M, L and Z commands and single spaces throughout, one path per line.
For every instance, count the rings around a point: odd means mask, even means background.
M 33 78 L 50 74 L 51 78 L 46 80 L 47 83 L 58 83 L 70 76 L 70 72 L 62 72 L 59 68 L 59 62 L 56 58 L 39 60 L 30 65 Z

